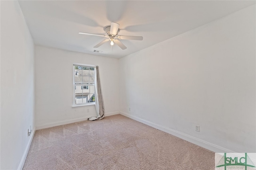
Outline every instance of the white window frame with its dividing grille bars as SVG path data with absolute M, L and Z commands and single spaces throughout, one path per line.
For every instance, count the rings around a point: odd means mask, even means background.
M 76 82 L 75 82 L 75 77 L 76 76 L 79 76 L 79 75 L 75 75 L 75 66 L 82 66 L 82 67 L 94 67 L 94 82 L 93 83 L 91 83 L 91 82 L 88 82 L 88 83 L 86 83 L 86 84 L 84 84 L 83 82 L 81 83 L 81 84 L 77 84 Z M 96 88 L 95 88 L 95 75 L 96 75 L 96 72 L 95 72 L 95 70 L 96 70 L 96 66 L 95 65 L 89 65 L 89 64 L 78 64 L 78 63 L 74 63 L 73 65 L 72 65 L 72 69 L 73 69 L 73 106 L 72 107 L 76 107 L 76 106 L 87 106 L 87 105 L 95 105 L 95 102 L 87 102 L 87 103 L 80 103 L 80 104 L 76 104 L 76 92 L 75 92 L 75 90 L 76 90 L 76 86 L 81 86 L 82 87 L 82 89 L 81 90 L 87 90 L 87 89 L 84 89 L 84 86 L 87 86 L 88 87 L 88 89 L 89 89 L 89 86 L 94 86 L 94 96 L 95 96 L 95 90 L 96 90 Z M 89 68 L 89 71 L 90 71 L 90 68 Z M 89 89 L 90 90 L 90 89 Z M 90 95 L 91 93 L 89 92 L 89 95 Z

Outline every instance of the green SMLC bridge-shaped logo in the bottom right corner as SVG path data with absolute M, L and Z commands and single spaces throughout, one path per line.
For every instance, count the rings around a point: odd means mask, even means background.
M 224 153 L 224 155 L 222 156 L 222 158 L 220 159 L 220 161 L 218 162 L 216 168 L 226 167 L 227 166 L 245 166 L 245 170 L 247 170 L 247 166 L 253 167 L 255 168 L 252 160 L 249 158 L 249 156 L 247 155 L 247 153 L 244 153 L 245 156 L 244 157 L 227 157 L 226 153 Z

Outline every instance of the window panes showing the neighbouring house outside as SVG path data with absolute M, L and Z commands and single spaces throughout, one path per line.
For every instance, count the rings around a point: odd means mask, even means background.
M 75 74 L 74 84 L 74 106 L 93 104 L 95 102 L 95 67 L 86 65 L 73 65 Z

